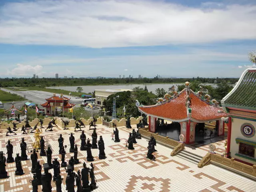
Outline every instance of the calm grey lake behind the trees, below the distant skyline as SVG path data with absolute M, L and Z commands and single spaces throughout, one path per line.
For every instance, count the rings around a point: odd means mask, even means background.
M 92 93 L 96 89 L 133 89 L 135 87 L 142 87 L 144 88 L 145 85 L 148 88 L 148 91 L 152 91 L 155 93 L 155 90 L 157 88 L 164 88 L 164 90 L 168 91 L 168 88 L 171 86 L 178 86 L 182 85 L 183 83 L 173 83 L 173 84 L 117 84 L 117 85 L 90 85 L 90 86 L 80 86 L 83 88 L 84 93 Z M 204 84 L 204 85 L 211 85 L 213 87 L 216 87 L 216 84 Z M 56 86 L 56 87 L 47 87 L 51 89 L 63 89 L 67 91 L 73 91 L 76 92 L 76 88 L 78 86 Z

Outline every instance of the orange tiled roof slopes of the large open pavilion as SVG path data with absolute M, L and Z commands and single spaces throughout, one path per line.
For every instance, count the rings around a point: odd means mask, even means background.
M 195 122 L 208 122 L 226 117 L 227 114 L 216 106 L 210 105 L 201 100 L 192 90 L 191 98 L 191 120 Z M 188 120 L 186 108 L 186 90 L 182 90 L 175 98 L 163 104 L 153 106 L 139 106 L 139 110 L 150 116 L 164 118 L 176 122 Z M 218 112 L 219 111 L 219 112 Z

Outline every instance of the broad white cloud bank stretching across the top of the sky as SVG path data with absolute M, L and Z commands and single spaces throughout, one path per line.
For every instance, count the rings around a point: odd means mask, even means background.
M 0 43 L 92 48 L 256 39 L 256 6 L 149 1 L 35 1 L 0 8 Z

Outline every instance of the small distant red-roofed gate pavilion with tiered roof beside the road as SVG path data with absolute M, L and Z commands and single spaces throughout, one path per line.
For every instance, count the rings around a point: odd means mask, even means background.
M 53 94 L 52 97 L 45 100 L 46 102 L 41 104 L 41 106 L 46 108 L 47 115 L 56 115 L 58 112 L 62 112 L 62 110 L 68 112 L 69 108 L 75 106 L 75 104 L 69 102 L 70 98 L 64 97 L 63 94 L 60 94 L 60 96 Z

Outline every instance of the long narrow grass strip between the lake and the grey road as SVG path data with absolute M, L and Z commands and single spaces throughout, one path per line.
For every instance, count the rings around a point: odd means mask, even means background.
M 46 92 L 52 92 L 52 93 L 58 93 L 58 94 L 65 94 L 68 95 L 69 93 L 72 94 L 72 96 L 81 96 L 82 94 L 86 95 L 92 95 L 88 93 L 78 93 L 78 92 L 72 92 L 72 91 L 67 91 L 67 90 L 62 90 L 62 89 L 49 89 L 49 88 L 43 88 L 40 86 L 34 86 L 34 87 L 16 87 L 16 88 L 11 88 L 11 87 L 6 87 L 6 89 L 13 90 L 13 91 L 28 91 L 28 90 L 38 90 L 38 91 L 46 91 Z

